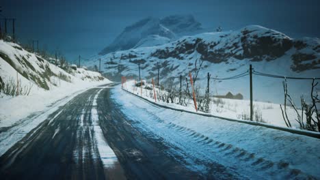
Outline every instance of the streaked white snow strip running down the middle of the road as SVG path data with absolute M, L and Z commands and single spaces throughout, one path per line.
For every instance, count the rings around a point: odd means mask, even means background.
M 118 158 L 114 151 L 109 147 L 101 127 L 99 126 L 99 117 L 97 111 L 98 95 L 103 89 L 109 87 L 101 87 L 97 89 L 95 95 L 91 95 L 86 102 L 85 108 L 81 110 L 81 114 L 77 117 L 77 145 L 73 151 L 77 166 L 85 172 L 85 161 L 92 160 L 94 163 L 101 162 L 105 169 L 105 177 L 114 175 L 112 169 L 120 170 L 116 175 L 119 179 L 125 179 L 124 172 L 119 166 Z M 116 167 L 115 167 L 116 166 Z

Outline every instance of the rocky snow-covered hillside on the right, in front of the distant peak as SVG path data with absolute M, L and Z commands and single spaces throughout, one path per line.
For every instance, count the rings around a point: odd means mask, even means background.
M 249 64 L 256 72 L 319 76 L 320 40 L 294 40 L 278 31 L 252 25 L 237 31 L 185 36 L 161 46 L 112 52 L 97 58 L 106 63 L 105 74 L 117 80 L 120 76 L 139 76 L 138 63 L 142 78 L 148 80 L 157 77 L 159 67 L 161 85 L 172 81 L 178 85 L 178 77 L 182 75 L 185 79 L 189 72 L 194 72 L 196 60 L 202 60 L 196 87 L 204 91 L 208 72 L 211 77 L 224 78 L 247 72 Z M 299 102 L 302 94 L 309 97 L 310 80 L 289 80 L 288 83 L 295 102 Z M 241 93 L 248 99 L 249 77 L 211 80 L 211 94 L 225 95 L 228 91 Z M 282 79 L 254 76 L 254 100 L 283 103 Z

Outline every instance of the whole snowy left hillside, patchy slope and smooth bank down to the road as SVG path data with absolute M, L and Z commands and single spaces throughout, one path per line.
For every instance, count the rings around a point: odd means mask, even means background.
M 18 44 L 0 40 L 0 128 L 83 89 L 111 82 L 98 72 L 65 69 Z

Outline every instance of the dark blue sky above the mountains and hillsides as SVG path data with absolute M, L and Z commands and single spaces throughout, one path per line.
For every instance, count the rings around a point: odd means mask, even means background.
M 192 14 L 213 30 L 262 25 L 291 37 L 320 37 L 317 0 L 1 0 L 0 5 L 3 16 L 16 18 L 21 42 L 39 40 L 40 48 L 57 49 L 70 61 L 96 54 L 124 27 L 147 16 Z

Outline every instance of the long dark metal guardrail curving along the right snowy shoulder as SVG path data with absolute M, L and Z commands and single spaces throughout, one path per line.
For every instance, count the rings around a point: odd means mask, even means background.
M 183 110 L 183 109 L 179 109 L 179 108 L 172 108 L 170 106 L 164 106 L 162 104 L 157 104 L 155 102 L 152 102 L 144 97 L 141 97 L 139 95 L 136 95 L 135 93 L 131 93 L 130 91 L 123 89 L 126 93 L 129 93 L 131 95 L 135 95 L 135 97 L 138 97 L 141 100 L 144 100 L 145 102 L 148 102 L 149 104 L 153 104 L 154 106 L 159 106 L 161 108 L 168 108 L 171 110 L 178 110 L 181 112 L 187 112 L 187 113 L 191 113 L 194 115 L 201 115 L 204 117 L 215 117 L 215 118 L 219 118 L 219 119 L 224 119 L 227 121 L 233 121 L 233 122 L 238 122 L 238 123 L 246 123 L 246 124 L 250 124 L 250 125 L 258 125 L 258 126 L 262 126 L 262 127 L 267 127 L 267 128 L 271 128 L 274 130 L 280 130 L 280 131 L 284 131 L 284 132 L 291 132 L 293 134 L 299 134 L 299 135 L 304 135 L 304 136 L 309 136 L 312 138 L 320 138 L 320 132 L 310 132 L 307 130 L 297 130 L 297 129 L 293 129 L 293 128 L 289 128 L 289 127 L 280 127 L 280 126 L 276 126 L 276 125 L 269 125 L 267 123 L 259 123 L 259 122 L 255 122 L 255 121 L 244 121 L 244 120 L 239 120 L 239 119 L 230 119 L 230 118 L 226 118 L 226 117 L 219 117 L 219 116 L 215 116 L 215 115 L 210 115 L 210 114 L 206 114 L 206 113 L 200 113 L 200 112 L 192 112 L 189 110 Z

